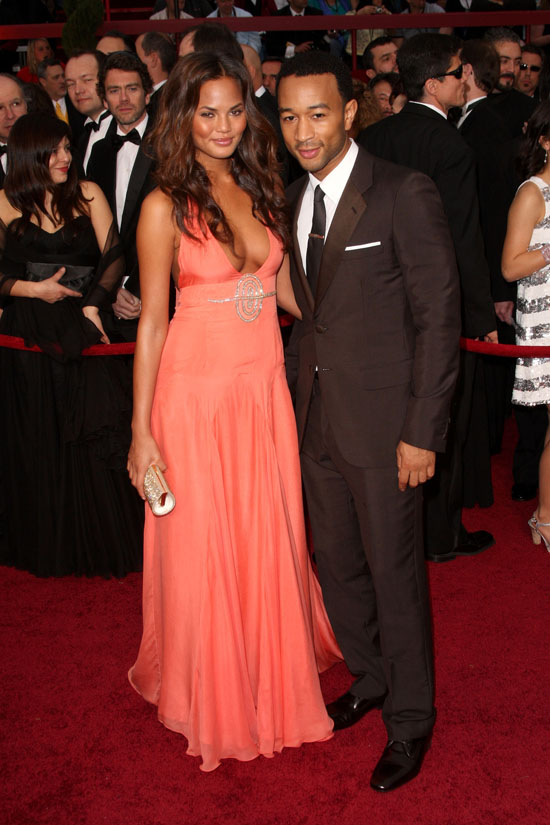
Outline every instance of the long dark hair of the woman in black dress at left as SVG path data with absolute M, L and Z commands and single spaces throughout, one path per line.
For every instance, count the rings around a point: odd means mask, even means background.
M 65 183 L 52 181 L 50 158 L 63 138 L 70 140 L 71 130 L 53 114 L 23 115 L 11 129 L 4 191 L 10 204 L 21 212 L 18 235 L 33 217 L 39 224 L 44 215 L 55 224 L 68 224 L 75 215 L 89 214 L 75 163 L 71 163 Z M 46 208 L 48 192 L 52 195 L 50 211 Z

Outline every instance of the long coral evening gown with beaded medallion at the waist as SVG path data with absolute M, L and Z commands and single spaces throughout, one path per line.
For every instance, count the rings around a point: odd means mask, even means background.
M 133 687 L 202 769 L 331 736 L 318 671 L 341 657 L 307 553 L 275 280 L 182 236 L 153 434 L 176 507 L 147 512 Z

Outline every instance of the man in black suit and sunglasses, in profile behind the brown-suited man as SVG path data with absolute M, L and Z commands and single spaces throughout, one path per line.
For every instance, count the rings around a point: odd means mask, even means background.
M 479 226 L 475 160 L 447 122 L 449 109 L 464 103 L 460 47 L 457 38 L 444 34 L 417 34 L 406 40 L 397 60 L 409 102 L 397 115 L 367 128 L 359 140 L 374 155 L 432 178 L 454 242 L 463 333 L 469 338 L 496 342 L 489 271 Z M 462 525 L 463 447 L 471 425 L 476 356 L 465 353 L 461 366 L 447 452 L 424 495 L 426 556 L 431 561 L 475 555 L 494 544 L 486 530 L 468 533 Z M 485 461 L 489 463 L 488 444 Z

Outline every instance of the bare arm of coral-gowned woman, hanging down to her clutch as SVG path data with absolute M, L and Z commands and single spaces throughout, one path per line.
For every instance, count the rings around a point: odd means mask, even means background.
M 143 202 L 137 228 L 141 317 L 134 355 L 134 412 L 128 456 L 130 480 L 142 498 L 151 464 L 166 464 L 151 433 L 151 408 L 162 348 L 168 332 L 168 300 L 174 259 L 172 203 L 159 189 Z

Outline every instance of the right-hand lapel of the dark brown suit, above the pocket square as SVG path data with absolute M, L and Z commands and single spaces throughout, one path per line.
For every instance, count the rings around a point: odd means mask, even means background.
M 366 152 L 359 154 L 346 184 L 325 241 L 315 305 L 323 300 L 345 254 L 345 248 L 367 208 L 364 192 L 372 184 L 372 160 Z

